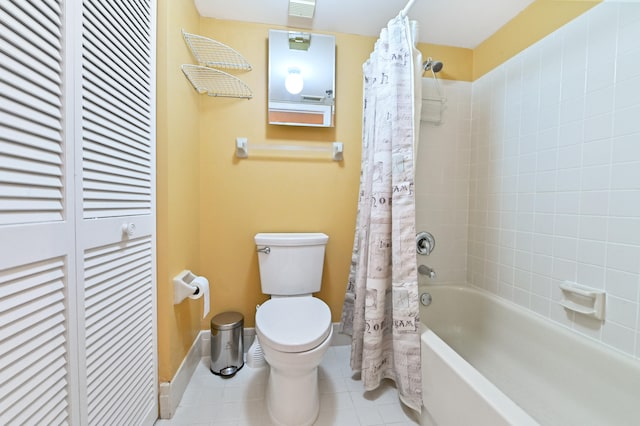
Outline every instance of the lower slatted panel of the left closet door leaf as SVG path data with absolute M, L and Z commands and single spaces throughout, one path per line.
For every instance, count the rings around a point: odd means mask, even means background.
M 0 424 L 38 424 L 55 407 L 68 419 L 65 271 L 61 258 L 0 271 Z

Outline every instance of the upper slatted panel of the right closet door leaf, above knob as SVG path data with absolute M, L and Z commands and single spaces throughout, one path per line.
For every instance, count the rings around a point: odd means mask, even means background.
M 149 17 L 139 16 L 149 10 L 148 4 L 140 7 L 132 1 L 84 3 L 82 114 L 86 218 L 151 212 L 151 200 L 146 195 L 151 193 L 153 173 L 149 162 L 153 132 L 149 114 L 153 108 L 151 32 Z M 134 21 L 146 25 L 132 27 Z M 119 178 L 118 185 L 93 184 L 113 182 L 114 177 Z M 135 187 L 128 189 L 131 177 L 135 179 Z

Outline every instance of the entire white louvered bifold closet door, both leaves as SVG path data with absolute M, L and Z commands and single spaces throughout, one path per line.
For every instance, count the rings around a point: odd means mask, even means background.
M 154 49 L 154 0 L 0 1 L 2 425 L 157 417 Z

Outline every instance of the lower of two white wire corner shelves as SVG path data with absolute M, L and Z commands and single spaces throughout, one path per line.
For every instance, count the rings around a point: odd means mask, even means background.
M 200 65 L 184 64 L 182 72 L 198 93 L 227 98 L 251 99 L 253 97 L 249 86 L 224 71 Z

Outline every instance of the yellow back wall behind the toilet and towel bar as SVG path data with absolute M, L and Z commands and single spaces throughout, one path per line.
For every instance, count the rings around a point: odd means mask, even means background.
M 267 41 L 273 26 L 202 19 L 202 35 L 242 53 L 253 70 L 235 73 L 253 99 L 200 99 L 200 265 L 212 284 L 213 313 L 235 310 L 254 325 L 260 291 L 253 236 L 258 232 L 329 235 L 322 291 L 333 320 L 340 318 L 351 261 L 360 174 L 362 63 L 375 39 L 336 34 L 336 127 L 275 126 L 267 121 Z M 283 158 L 279 152 L 248 159 L 234 155 L 236 137 L 249 144 L 329 146 L 344 142 L 344 161 L 328 154 Z M 203 321 L 202 328 L 208 322 Z

